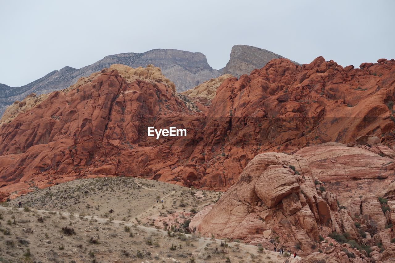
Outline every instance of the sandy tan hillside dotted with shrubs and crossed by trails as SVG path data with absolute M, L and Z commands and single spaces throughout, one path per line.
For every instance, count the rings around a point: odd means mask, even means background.
M 13 200 L 8 207 L 0 206 L 0 259 L 241 263 L 283 262 L 288 257 L 239 240 L 199 237 L 188 232 L 187 224 L 165 221 L 163 214 L 169 211 L 169 216 L 184 210 L 192 214 L 191 208 L 199 210 L 201 204 L 214 202 L 220 195 L 117 177 L 81 179 L 36 190 Z M 156 203 L 157 196 L 164 203 Z M 15 208 L 19 201 L 23 209 Z M 149 222 L 148 218 L 156 220 Z

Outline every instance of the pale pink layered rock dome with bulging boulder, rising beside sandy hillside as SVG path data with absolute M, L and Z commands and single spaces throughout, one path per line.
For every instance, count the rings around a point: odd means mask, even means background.
M 320 233 L 334 227 L 331 216 L 335 212 L 317 193 L 315 180 L 300 156 L 258 154 L 236 184 L 215 205 L 199 212 L 189 227 L 207 237 L 273 247 L 270 240 L 278 236 L 284 246 L 300 242 L 309 251 Z

